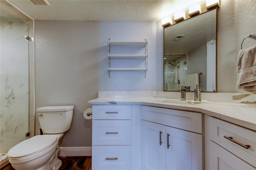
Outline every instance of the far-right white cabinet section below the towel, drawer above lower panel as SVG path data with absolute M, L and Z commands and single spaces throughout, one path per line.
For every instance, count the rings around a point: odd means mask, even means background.
M 214 117 L 207 119 L 206 169 L 256 170 L 256 132 Z

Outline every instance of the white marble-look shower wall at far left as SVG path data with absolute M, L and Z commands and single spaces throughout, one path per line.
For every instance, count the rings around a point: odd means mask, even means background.
M 1 18 L 0 34 L 0 153 L 7 153 L 29 132 L 28 25 Z

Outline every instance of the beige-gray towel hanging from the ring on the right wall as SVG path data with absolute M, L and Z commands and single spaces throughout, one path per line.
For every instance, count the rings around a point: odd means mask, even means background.
M 238 53 L 237 89 L 256 91 L 256 45 Z

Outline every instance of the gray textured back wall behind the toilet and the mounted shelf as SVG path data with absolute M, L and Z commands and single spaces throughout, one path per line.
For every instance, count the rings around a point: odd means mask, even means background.
M 36 108 L 74 105 L 72 126 L 61 146 L 91 146 L 92 121 L 84 119 L 83 112 L 98 91 L 157 89 L 156 22 L 36 21 L 35 30 Z M 108 38 L 148 40 L 146 78 L 143 71 L 111 72 L 109 78 Z M 161 60 L 162 56 L 158 55 Z M 39 127 L 36 118 L 36 134 Z

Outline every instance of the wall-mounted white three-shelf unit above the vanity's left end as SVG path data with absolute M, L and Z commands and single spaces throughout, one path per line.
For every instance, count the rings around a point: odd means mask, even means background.
M 116 48 L 115 48 L 116 47 Z M 108 75 L 110 71 L 147 72 L 148 41 L 112 42 L 108 40 Z M 118 60 L 119 59 L 119 60 Z M 122 59 L 122 61 L 120 61 Z M 128 60 L 136 60 L 130 62 Z M 142 60 L 141 60 L 142 59 Z M 117 62 L 115 62 L 116 60 Z M 143 61 L 143 62 L 142 62 Z M 121 65 L 124 64 L 124 67 Z M 129 65 L 130 67 L 127 67 Z

